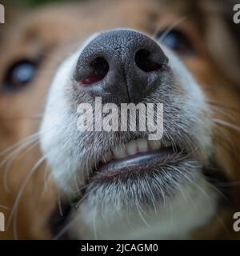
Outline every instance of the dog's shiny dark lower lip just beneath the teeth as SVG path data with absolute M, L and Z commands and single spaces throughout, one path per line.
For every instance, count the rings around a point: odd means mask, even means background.
M 98 166 L 97 172 L 112 175 L 130 171 L 154 169 L 154 167 L 164 165 L 167 159 L 178 153 L 174 151 L 171 146 L 162 148 L 161 150 L 138 153 L 126 158 L 115 159 L 106 164 L 102 163 Z

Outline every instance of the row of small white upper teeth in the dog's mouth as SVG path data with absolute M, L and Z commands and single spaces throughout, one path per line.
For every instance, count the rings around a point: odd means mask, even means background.
M 114 148 L 113 153 L 108 152 L 102 156 L 102 162 L 110 162 L 112 159 L 125 158 L 128 155 L 134 155 L 150 150 L 158 150 L 162 147 L 171 146 L 170 142 L 148 141 L 146 139 L 132 140 L 125 145 Z

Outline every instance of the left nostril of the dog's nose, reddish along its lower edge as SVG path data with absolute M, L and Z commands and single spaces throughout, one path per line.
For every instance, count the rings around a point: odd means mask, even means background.
M 105 78 L 109 70 L 108 62 L 102 57 L 94 58 L 94 60 L 90 62 L 90 70 L 90 75 L 81 81 L 82 85 L 90 85 L 91 83 L 99 82 Z

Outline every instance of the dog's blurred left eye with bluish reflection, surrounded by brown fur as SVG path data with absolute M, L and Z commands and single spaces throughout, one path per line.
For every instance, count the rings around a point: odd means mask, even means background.
M 22 89 L 33 80 L 36 70 L 36 62 L 22 60 L 14 63 L 6 73 L 2 89 L 9 93 Z

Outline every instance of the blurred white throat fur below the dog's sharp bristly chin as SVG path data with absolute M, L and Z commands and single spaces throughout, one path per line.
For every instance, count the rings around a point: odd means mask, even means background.
M 77 239 L 190 239 L 215 216 L 218 201 L 202 174 L 194 183 L 186 182 L 172 201 L 150 210 L 128 212 L 112 205 L 102 210 L 83 202 L 72 210 L 68 234 Z

